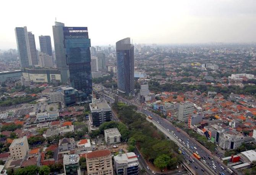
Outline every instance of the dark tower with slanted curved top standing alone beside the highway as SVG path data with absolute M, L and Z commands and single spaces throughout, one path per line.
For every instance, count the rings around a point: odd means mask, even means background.
M 117 41 L 117 89 L 121 93 L 134 93 L 134 46 L 130 38 Z

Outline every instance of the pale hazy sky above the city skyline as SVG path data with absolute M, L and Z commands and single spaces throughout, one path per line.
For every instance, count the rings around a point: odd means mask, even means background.
M 0 49 L 16 48 L 15 27 L 52 37 L 55 17 L 88 27 L 92 45 L 255 42 L 256 0 L 2 0 Z M 52 46 L 53 37 L 52 37 Z

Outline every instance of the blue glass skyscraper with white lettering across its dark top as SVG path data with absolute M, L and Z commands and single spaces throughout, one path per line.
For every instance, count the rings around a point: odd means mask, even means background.
M 89 96 L 92 93 L 92 74 L 91 40 L 87 27 L 63 27 L 63 37 L 71 86 Z

